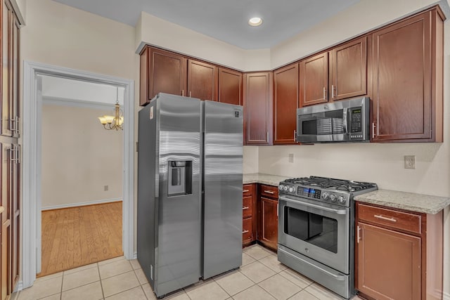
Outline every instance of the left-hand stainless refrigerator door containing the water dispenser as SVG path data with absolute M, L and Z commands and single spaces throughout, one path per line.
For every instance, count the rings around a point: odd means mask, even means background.
M 200 106 L 193 98 L 167 94 L 158 98 L 156 296 L 201 277 Z

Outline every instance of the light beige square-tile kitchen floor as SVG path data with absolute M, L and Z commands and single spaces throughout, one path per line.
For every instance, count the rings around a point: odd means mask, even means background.
M 136 260 L 124 257 L 92 263 L 38 278 L 14 293 L 12 300 L 155 300 L 155 294 Z M 198 282 L 167 300 L 342 299 L 284 266 L 276 254 L 259 245 L 243 250 L 243 266 L 231 273 Z M 354 299 L 359 299 L 357 296 Z

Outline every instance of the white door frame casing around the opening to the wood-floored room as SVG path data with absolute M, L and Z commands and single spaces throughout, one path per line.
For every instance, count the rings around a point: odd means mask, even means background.
M 17 289 L 33 285 L 41 253 L 41 106 L 38 76 L 48 75 L 124 87 L 124 160 L 122 249 L 134 259 L 134 81 L 66 67 L 24 60 L 23 66 L 23 159 L 22 159 L 22 276 Z M 128 126 L 129 125 L 129 126 Z M 99 124 L 100 126 L 100 124 Z M 40 267 L 40 266 L 39 266 Z

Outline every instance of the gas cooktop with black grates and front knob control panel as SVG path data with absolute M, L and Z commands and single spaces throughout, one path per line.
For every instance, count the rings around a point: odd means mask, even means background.
M 281 195 L 293 195 L 349 207 L 350 200 L 355 195 L 378 190 L 378 185 L 376 183 L 309 176 L 281 181 L 278 190 Z

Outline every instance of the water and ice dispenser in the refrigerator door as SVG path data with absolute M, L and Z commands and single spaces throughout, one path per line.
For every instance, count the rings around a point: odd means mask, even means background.
M 167 177 L 167 195 L 192 194 L 192 161 L 169 161 L 169 174 Z

